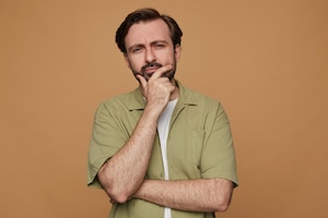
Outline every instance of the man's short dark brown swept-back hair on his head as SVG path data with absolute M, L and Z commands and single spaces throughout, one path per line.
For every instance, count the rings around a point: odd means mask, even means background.
M 176 23 L 176 21 L 168 15 L 160 14 L 155 9 L 145 8 L 145 9 L 139 9 L 139 10 L 133 11 L 132 13 L 128 14 L 126 20 L 117 28 L 115 41 L 116 41 L 119 50 L 124 53 L 127 52 L 126 45 L 125 45 L 125 38 L 126 38 L 127 34 L 129 33 L 130 27 L 133 24 L 137 24 L 141 21 L 153 21 L 156 19 L 161 19 L 167 24 L 173 45 L 174 46 L 180 45 L 183 32 L 181 32 L 180 27 L 178 26 L 178 24 Z

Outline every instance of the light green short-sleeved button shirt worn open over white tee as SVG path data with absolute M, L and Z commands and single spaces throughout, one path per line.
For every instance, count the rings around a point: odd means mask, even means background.
M 220 102 L 185 88 L 173 111 L 167 137 L 171 180 L 222 178 L 237 185 L 235 152 L 230 122 Z M 95 113 L 89 148 L 87 185 L 102 187 L 97 172 L 131 136 L 144 109 L 139 88 L 102 102 Z M 145 179 L 164 180 L 159 135 Z M 114 204 L 109 218 L 163 218 L 164 207 L 132 198 Z M 172 209 L 172 218 L 213 218 L 213 213 Z

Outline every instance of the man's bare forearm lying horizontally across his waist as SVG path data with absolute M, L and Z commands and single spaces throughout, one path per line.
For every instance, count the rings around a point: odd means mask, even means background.
M 225 211 L 232 191 L 232 182 L 223 179 L 147 180 L 134 197 L 179 210 Z

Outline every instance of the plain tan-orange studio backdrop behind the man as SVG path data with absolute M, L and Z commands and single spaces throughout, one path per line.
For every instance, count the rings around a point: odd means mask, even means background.
M 114 34 L 140 7 L 178 21 L 177 78 L 232 121 L 241 186 L 219 217 L 327 217 L 327 2 L 1 0 L 0 217 L 107 217 L 86 153 L 98 102 L 137 85 Z

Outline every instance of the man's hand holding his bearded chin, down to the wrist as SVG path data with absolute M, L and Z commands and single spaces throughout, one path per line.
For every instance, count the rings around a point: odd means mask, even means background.
M 171 70 L 172 65 L 164 65 L 157 69 L 149 81 L 141 75 L 137 75 L 143 89 L 147 105 L 151 107 L 152 110 L 157 109 L 155 111 L 162 112 L 166 107 L 172 93 L 176 88 L 166 76 L 163 76 Z

